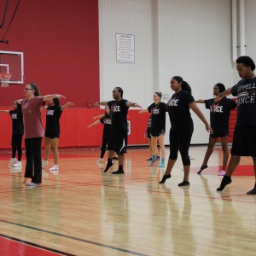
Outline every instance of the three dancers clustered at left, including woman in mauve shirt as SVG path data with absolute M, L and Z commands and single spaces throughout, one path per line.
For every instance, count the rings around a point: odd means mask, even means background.
M 37 186 L 42 183 L 42 169 L 48 164 L 49 150 L 53 148 L 55 165 L 49 168 L 51 172 L 59 170 L 58 142 L 60 137 L 60 123 L 62 111 L 73 102 L 60 106 L 58 94 L 40 96 L 37 84 L 26 84 L 25 99 L 15 100 L 14 110 L 1 110 L 9 113 L 12 119 L 12 157 L 9 166 L 21 169 L 22 137 L 25 137 L 26 171 L 23 183 L 26 186 Z M 48 102 L 48 107 L 45 106 Z M 46 108 L 46 127 L 44 131 L 41 108 Z M 44 137 L 44 160 L 41 160 L 42 139 Z M 18 152 L 18 159 L 15 154 Z M 27 179 L 31 182 L 27 183 Z

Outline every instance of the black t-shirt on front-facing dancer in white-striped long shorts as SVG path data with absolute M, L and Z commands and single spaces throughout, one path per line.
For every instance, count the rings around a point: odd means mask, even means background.
M 127 113 L 129 107 L 126 107 L 126 102 L 128 101 L 124 99 L 108 102 L 112 116 L 112 130 L 127 131 Z

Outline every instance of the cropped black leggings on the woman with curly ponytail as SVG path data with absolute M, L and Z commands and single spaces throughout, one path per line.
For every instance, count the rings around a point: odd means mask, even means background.
M 189 145 L 194 131 L 193 125 L 186 130 L 170 130 L 170 156 L 169 159 L 177 160 L 179 151 L 183 160 L 183 166 L 190 166 Z

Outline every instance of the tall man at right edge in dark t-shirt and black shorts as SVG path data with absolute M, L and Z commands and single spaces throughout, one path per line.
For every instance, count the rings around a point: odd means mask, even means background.
M 224 96 L 237 96 L 237 120 L 234 131 L 231 157 L 227 172 L 224 175 L 217 191 L 232 182 L 231 176 L 239 165 L 241 156 L 252 156 L 254 176 L 256 179 L 256 77 L 255 64 L 248 56 L 241 56 L 236 60 L 236 70 L 241 80 L 225 90 L 215 99 L 220 101 Z M 247 195 L 256 195 L 256 182 Z

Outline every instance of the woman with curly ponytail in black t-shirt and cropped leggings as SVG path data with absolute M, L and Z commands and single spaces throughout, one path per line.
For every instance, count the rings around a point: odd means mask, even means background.
M 165 175 L 160 183 L 165 183 L 166 179 L 171 177 L 172 168 L 177 160 L 179 151 L 183 161 L 184 177 L 183 182 L 179 183 L 178 186 L 189 186 L 189 145 L 194 131 L 189 109 L 191 108 L 206 125 L 208 132 L 212 133 L 212 128 L 207 123 L 207 119 L 201 113 L 201 110 L 196 106 L 194 97 L 191 95 L 191 88 L 187 82 L 183 81 L 181 77 L 175 76 L 171 79 L 171 88 L 175 93 L 167 103 L 172 126 L 170 130 L 170 156 Z

